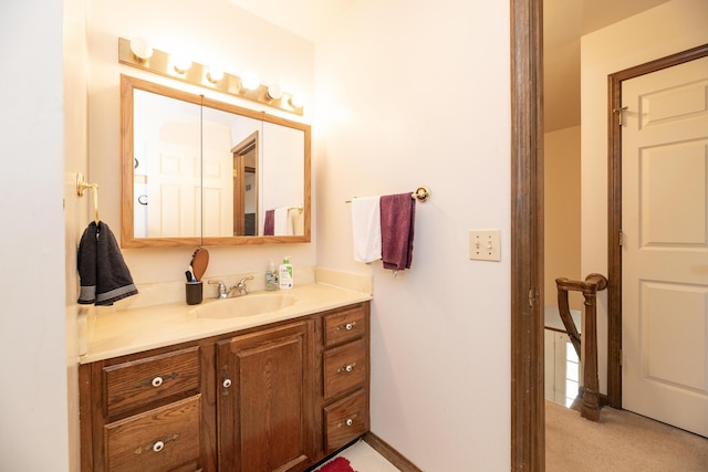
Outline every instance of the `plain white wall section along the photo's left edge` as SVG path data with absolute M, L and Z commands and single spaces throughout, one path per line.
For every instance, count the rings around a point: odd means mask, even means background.
M 62 8 L 0 7 L 2 471 L 69 470 Z

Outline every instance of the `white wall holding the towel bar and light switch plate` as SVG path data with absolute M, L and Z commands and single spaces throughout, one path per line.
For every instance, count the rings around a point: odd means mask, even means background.
M 360 0 L 316 45 L 317 265 L 374 276 L 372 430 L 425 471 L 509 470 L 508 2 Z M 353 261 L 353 196 L 412 191 L 413 266 Z M 468 231 L 500 229 L 501 262 Z

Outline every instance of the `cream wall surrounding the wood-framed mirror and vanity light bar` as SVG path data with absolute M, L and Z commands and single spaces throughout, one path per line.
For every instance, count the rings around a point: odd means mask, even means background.
M 205 93 L 222 102 L 253 109 L 269 108 L 239 101 L 205 88 L 118 64 L 118 38 L 144 36 L 156 49 L 184 51 L 202 64 L 220 64 L 233 74 L 252 70 L 262 83 L 278 81 L 288 92 L 303 91 L 313 96 L 314 45 L 279 27 L 268 23 L 223 0 L 88 0 L 87 29 L 90 54 L 90 178 L 101 186 L 101 219 L 118 237 L 121 230 L 121 146 L 119 74 L 168 84 L 192 93 Z M 312 106 L 305 105 L 305 113 Z M 289 119 L 311 122 L 280 113 Z M 314 242 L 314 235 L 313 235 Z M 315 244 L 267 244 L 209 248 L 209 268 L 205 277 L 266 271 L 270 259 L 284 255 L 298 266 L 315 265 Z M 125 261 L 138 284 L 181 281 L 195 248 L 124 250 Z

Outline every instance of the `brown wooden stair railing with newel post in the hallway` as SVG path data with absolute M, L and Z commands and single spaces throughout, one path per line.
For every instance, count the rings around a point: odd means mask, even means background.
M 600 380 L 597 379 L 597 291 L 607 287 L 607 277 L 602 274 L 590 274 L 585 281 L 571 281 L 565 277 L 555 280 L 558 286 L 558 310 L 571 343 L 581 359 L 583 378 L 577 389 L 577 398 L 572 408 L 577 408 L 583 418 L 592 421 L 600 419 Z M 568 302 L 570 291 L 582 292 L 585 297 L 585 314 L 583 316 L 583 334 L 577 328 L 571 316 Z M 581 353 L 584 345 L 585 355 Z M 581 402 L 582 401 L 582 402 Z

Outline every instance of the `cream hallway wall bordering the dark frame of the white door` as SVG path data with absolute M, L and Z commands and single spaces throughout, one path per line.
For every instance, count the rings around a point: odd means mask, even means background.
M 707 43 L 707 19 L 705 0 L 673 0 L 582 38 L 583 274 L 607 274 L 607 75 Z M 597 343 L 606 346 L 606 291 L 597 300 Z M 597 357 L 606 391 L 606 352 Z

